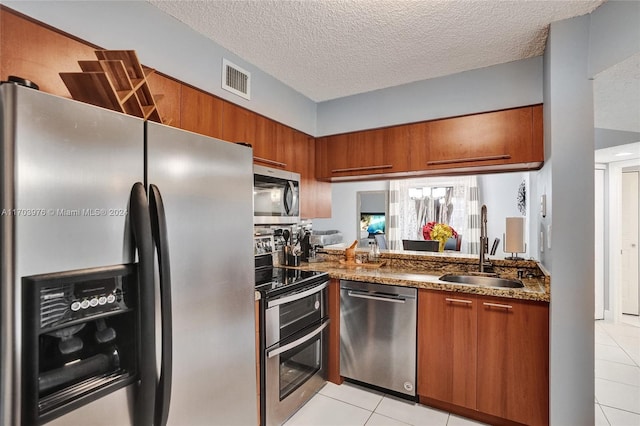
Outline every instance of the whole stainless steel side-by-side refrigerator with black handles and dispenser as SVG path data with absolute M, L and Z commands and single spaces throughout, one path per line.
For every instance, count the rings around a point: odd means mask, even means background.
M 251 149 L 0 108 L 0 424 L 257 424 Z

